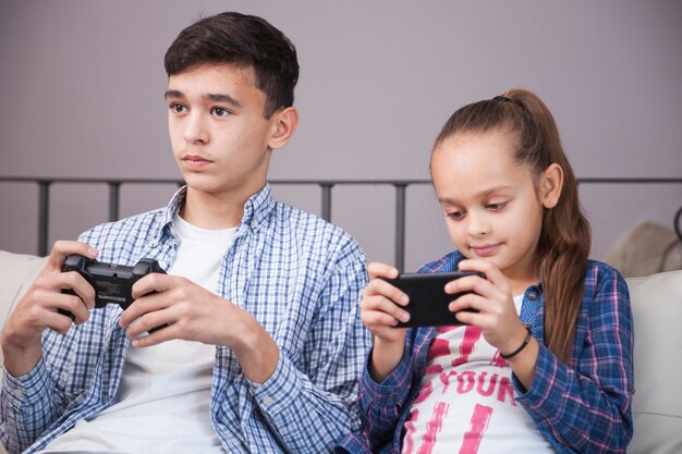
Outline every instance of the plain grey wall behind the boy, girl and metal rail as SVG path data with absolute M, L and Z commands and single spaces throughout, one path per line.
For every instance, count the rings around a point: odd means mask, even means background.
M 179 177 L 162 57 L 182 27 L 223 10 L 263 15 L 297 46 L 302 123 L 272 179 L 427 179 L 450 113 L 512 86 L 548 103 L 579 176 L 682 176 L 678 0 L 3 0 L 0 175 Z M 681 186 L 582 187 L 593 256 L 644 220 L 671 228 Z M 124 189 L 123 214 L 165 205 L 174 187 L 142 189 Z M 319 212 L 316 189 L 275 191 Z M 36 194 L 0 183 L 0 248 L 37 250 Z M 393 260 L 392 197 L 334 189 L 334 222 L 372 260 Z M 106 199 L 105 187 L 54 186 L 50 242 L 106 220 Z M 450 243 L 429 186 L 407 201 L 414 269 Z

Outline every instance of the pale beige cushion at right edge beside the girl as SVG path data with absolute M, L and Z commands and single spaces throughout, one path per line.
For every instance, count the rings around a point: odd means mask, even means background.
M 629 453 L 682 453 L 682 271 L 628 279 L 635 331 Z

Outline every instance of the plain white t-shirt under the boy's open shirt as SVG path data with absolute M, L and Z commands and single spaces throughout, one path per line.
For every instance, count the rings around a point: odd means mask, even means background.
M 234 229 L 205 230 L 175 214 L 180 240 L 169 274 L 216 292 Z M 208 404 L 216 347 L 173 340 L 127 349 L 114 403 L 41 453 L 223 453 Z

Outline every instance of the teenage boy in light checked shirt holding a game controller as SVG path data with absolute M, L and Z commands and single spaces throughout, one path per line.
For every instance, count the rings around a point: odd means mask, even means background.
M 331 451 L 358 426 L 367 278 L 348 234 L 273 201 L 266 181 L 299 121 L 295 49 L 263 19 L 222 13 L 181 32 L 166 70 L 186 186 L 166 208 L 56 243 L 2 335 L 3 442 L 27 453 Z M 94 289 L 61 271 L 69 254 L 150 257 L 169 273 L 137 281 L 123 312 L 92 310 Z

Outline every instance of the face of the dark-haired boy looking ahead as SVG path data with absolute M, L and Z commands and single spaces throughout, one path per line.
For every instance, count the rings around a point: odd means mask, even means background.
M 205 64 L 170 76 L 171 147 L 188 191 L 245 200 L 260 191 L 278 127 L 252 68 Z

